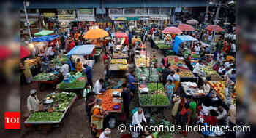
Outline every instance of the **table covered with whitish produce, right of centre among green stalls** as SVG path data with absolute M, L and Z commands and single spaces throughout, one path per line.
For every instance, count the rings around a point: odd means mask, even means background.
M 181 82 L 181 89 L 188 97 L 203 95 L 203 90 L 200 90 L 195 82 Z

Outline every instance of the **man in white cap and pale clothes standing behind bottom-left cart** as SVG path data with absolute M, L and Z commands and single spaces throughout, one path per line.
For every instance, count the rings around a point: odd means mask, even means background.
M 30 95 L 27 100 L 27 107 L 28 107 L 29 113 L 34 113 L 39 111 L 41 102 L 38 100 L 36 93 L 37 93 L 37 90 L 31 89 Z

